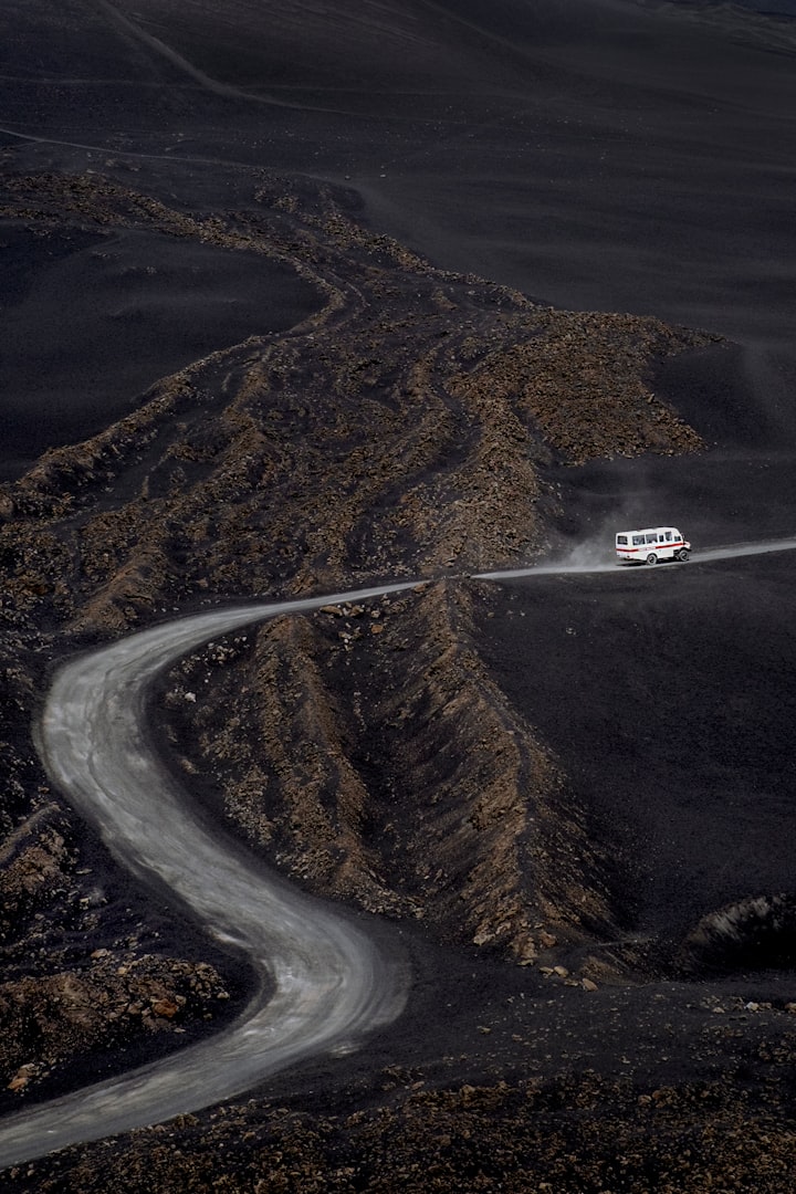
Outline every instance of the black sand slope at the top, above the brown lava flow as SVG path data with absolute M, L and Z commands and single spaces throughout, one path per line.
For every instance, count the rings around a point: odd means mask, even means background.
M 439 265 L 786 350 L 796 31 L 716 7 L 30 0 L 4 140 L 195 209 L 236 167 L 350 181 Z

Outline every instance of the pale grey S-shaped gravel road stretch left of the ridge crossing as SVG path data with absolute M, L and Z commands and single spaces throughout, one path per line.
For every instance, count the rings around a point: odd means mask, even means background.
M 98 826 L 118 861 L 165 884 L 211 934 L 243 949 L 261 983 L 240 1020 L 217 1035 L 6 1119 L 0 1168 L 240 1095 L 400 1014 L 408 984 L 400 962 L 331 905 L 291 888 L 199 821 L 150 750 L 146 694 L 160 669 L 216 635 L 414 584 L 198 614 L 81 656 L 56 673 L 37 741 L 53 783 Z

